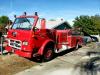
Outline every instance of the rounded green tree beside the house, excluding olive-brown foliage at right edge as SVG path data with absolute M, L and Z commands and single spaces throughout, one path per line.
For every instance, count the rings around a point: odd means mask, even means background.
M 94 21 L 91 19 L 90 16 L 79 16 L 76 17 L 74 20 L 74 27 L 80 27 L 82 28 L 85 32 L 89 33 L 89 34 L 96 34 L 96 28 L 95 28 L 95 23 Z

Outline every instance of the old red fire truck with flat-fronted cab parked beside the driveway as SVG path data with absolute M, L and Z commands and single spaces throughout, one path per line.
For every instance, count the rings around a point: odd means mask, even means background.
M 8 52 L 13 52 L 26 58 L 42 57 L 44 61 L 51 60 L 55 53 L 82 45 L 82 37 L 74 35 L 72 29 L 55 27 L 47 29 L 46 20 L 26 13 L 16 17 L 7 33 Z

